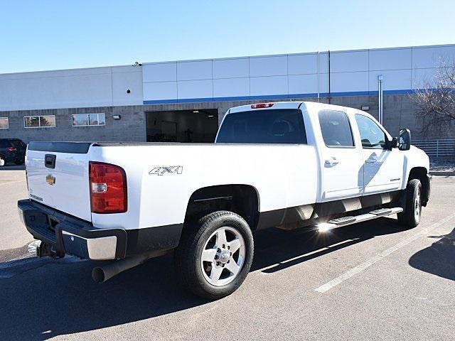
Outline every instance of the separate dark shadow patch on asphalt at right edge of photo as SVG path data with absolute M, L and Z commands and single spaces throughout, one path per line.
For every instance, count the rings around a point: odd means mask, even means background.
M 449 234 L 429 238 L 438 240 L 414 254 L 409 260 L 410 266 L 455 281 L 455 229 Z

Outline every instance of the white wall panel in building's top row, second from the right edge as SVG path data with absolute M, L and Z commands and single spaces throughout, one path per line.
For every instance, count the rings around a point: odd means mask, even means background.
M 371 70 L 400 70 L 412 68 L 411 48 L 370 50 Z

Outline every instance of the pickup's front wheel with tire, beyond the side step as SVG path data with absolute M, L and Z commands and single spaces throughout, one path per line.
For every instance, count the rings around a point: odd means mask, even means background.
M 412 179 L 407 183 L 405 210 L 398 213 L 398 222 L 407 227 L 416 227 L 422 216 L 422 183 Z

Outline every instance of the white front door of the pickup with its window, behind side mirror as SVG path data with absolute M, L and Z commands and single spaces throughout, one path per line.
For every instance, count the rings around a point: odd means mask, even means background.
M 398 190 L 402 183 L 403 153 L 386 148 L 387 135 L 362 114 L 355 114 L 363 149 L 364 195 Z

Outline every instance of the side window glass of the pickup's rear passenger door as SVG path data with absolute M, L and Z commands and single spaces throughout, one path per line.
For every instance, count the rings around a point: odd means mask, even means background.
M 336 110 L 321 110 L 319 112 L 324 143 L 328 147 L 353 147 L 353 133 L 350 130 L 348 115 Z

